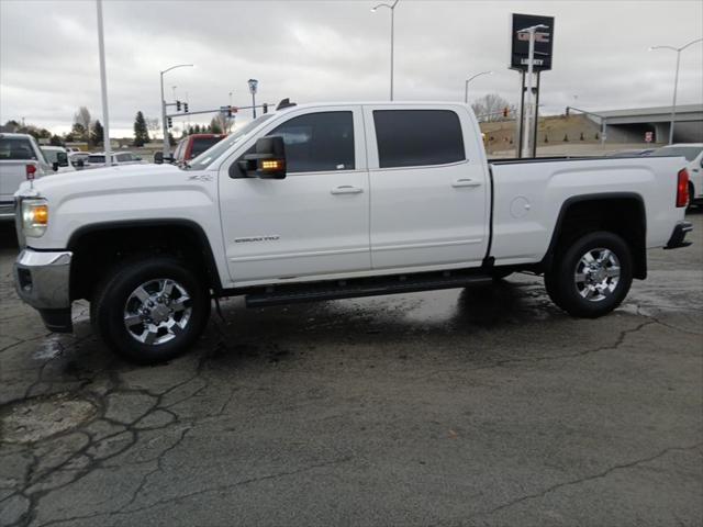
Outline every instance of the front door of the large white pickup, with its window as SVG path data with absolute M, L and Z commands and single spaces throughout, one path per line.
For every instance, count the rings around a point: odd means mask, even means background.
M 284 282 L 370 269 L 360 106 L 293 110 L 266 135 L 283 138 L 286 179 L 220 179 L 234 282 Z

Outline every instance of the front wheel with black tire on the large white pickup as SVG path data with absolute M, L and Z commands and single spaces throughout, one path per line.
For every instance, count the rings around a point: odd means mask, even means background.
M 136 323 L 127 329 L 127 302 L 136 302 L 136 305 L 140 305 L 133 293 L 142 284 L 148 284 L 147 288 L 152 291 L 152 284 L 166 283 L 166 280 L 171 284 L 175 282 L 171 288 L 175 292 L 163 303 L 171 314 L 159 312 L 158 315 L 170 318 L 159 322 L 158 325 L 145 323 L 140 326 L 141 323 Z M 176 299 L 171 300 L 172 298 Z M 181 261 L 171 257 L 143 256 L 126 260 L 108 273 L 93 295 L 90 319 L 93 330 L 115 354 L 133 362 L 156 363 L 178 357 L 189 349 L 208 323 L 210 304 L 210 291 L 203 280 Z M 152 305 L 157 307 L 156 303 Z M 186 314 L 188 317 L 183 318 Z M 158 322 L 156 315 L 154 316 L 155 318 L 149 321 Z M 175 327 L 177 322 L 178 328 Z M 166 327 L 169 323 L 172 323 L 170 328 Z M 148 328 L 154 328 L 155 332 L 149 332 Z M 155 334 L 157 336 L 154 338 L 166 341 L 140 341 L 138 337 L 133 336 L 141 333 L 140 329 L 145 332 L 147 339 Z

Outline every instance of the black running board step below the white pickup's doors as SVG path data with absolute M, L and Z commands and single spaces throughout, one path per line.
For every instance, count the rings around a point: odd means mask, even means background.
M 334 280 L 310 284 L 290 284 L 267 288 L 246 295 L 247 307 L 314 302 L 321 300 L 353 299 L 380 294 L 412 293 L 436 289 L 464 288 L 472 283 L 490 282 L 491 277 L 475 273 L 424 273 L 373 279 Z

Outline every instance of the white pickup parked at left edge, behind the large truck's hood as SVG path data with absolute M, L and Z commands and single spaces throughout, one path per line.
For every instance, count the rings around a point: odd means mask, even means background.
M 0 133 L 0 222 L 13 221 L 13 194 L 27 179 L 54 173 L 34 137 Z

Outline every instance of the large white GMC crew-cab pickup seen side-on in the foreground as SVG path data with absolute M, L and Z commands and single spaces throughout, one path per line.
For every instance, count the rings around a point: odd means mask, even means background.
M 114 351 L 153 362 L 227 295 L 265 306 L 528 271 L 595 317 L 646 278 L 646 249 L 690 244 L 684 158 L 489 164 L 480 137 L 464 104 L 282 101 L 182 168 L 24 184 L 16 290 L 55 332 L 87 299 Z

